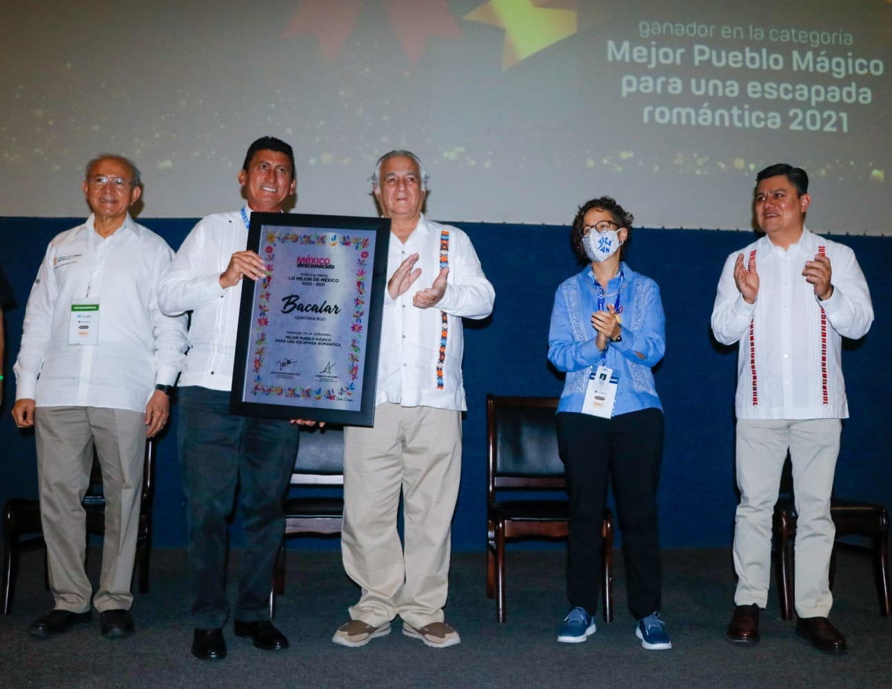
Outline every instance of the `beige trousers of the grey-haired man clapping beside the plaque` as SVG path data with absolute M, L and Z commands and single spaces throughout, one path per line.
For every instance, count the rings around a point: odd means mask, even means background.
M 378 405 L 374 428 L 344 429 L 343 478 L 343 565 L 362 588 L 351 619 L 373 627 L 396 615 L 412 627 L 442 622 L 461 413 Z M 401 492 L 405 546 L 397 531 Z

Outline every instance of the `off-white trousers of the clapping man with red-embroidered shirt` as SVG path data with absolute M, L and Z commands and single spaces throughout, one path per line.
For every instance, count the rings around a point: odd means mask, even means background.
M 772 516 L 780 472 L 789 448 L 798 513 L 794 587 L 799 617 L 827 617 L 830 554 L 836 528 L 830 492 L 839 454 L 839 419 L 805 421 L 738 419 L 737 483 L 740 504 L 734 527 L 736 605 L 764 608 L 772 562 Z

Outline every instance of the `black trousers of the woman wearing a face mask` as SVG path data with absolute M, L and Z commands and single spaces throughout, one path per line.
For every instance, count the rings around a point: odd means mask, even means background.
M 567 594 L 594 615 L 601 586 L 601 523 L 612 480 L 629 610 L 635 619 L 660 610 L 663 570 L 657 530 L 657 485 L 663 455 L 663 413 L 642 409 L 602 419 L 558 414 L 558 447 L 570 483 Z

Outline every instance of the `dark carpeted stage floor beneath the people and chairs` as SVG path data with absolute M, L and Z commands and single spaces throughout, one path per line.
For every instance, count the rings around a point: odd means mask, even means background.
M 235 553 L 237 558 L 238 553 Z M 91 551 L 91 570 L 99 553 Z M 566 614 L 564 554 L 508 554 L 508 622 L 495 620 L 485 595 L 485 555 L 455 554 L 447 620 L 462 643 L 431 649 L 393 633 L 359 649 L 331 643 L 348 619 L 357 589 L 336 551 L 290 551 L 286 595 L 276 623 L 291 640 L 264 652 L 226 629 L 227 659 L 196 660 L 189 652 L 188 572 L 182 550 L 153 553 L 149 593 L 136 595 L 136 634 L 106 639 L 80 626 L 49 640 L 28 635 L 29 623 L 52 607 L 43 587 L 43 554 L 22 557 L 12 614 L 0 616 L 0 686 L 20 687 L 880 687 L 892 686 L 892 619 L 880 617 L 871 562 L 838 555 L 831 619 L 850 650 L 833 656 L 796 636 L 779 619 L 772 594 L 761 644 L 726 642 L 734 580 L 728 550 L 680 549 L 664 554 L 663 615 L 673 650 L 645 651 L 626 608 L 622 558 L 615 568 L 615 621 L 598 617 L 584 644 L 558 644 Z M 95 578 L 95 574 L 94 574 Z

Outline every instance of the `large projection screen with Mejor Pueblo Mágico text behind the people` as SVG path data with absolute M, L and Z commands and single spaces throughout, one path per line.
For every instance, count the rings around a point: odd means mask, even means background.
M 374 215 L 408 148 L 450 221 L 749 228 L 756 172 L 812 178 L 808 225 L 892 234 L 892 0 L 3 0 L 0 216 L 83 216 L 118 152 L 141 217 L 234 209 L 250 142 L 293 145 L 295 210 Z

